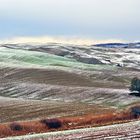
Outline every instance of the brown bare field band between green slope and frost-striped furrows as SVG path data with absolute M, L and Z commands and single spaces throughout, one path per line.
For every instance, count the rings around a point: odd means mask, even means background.
M 49 68 L 0 68 L 0 83 L 10 84 L 11 82 L 30 82 L 63 86 L 108 87 L 123 89 L 128 86 L 129 80 L 131 80 L 132 76 L 135 77 L 140 74 L 139 72 L 135 72 L 132 73 L 130 77 L 129 71 L 126 71 L 126 73 L 123 73 L 121 76 L 119 75 L 120 72 L 122 71 L 62 71 Z M 108 80 L 106 75 L 114 78 Z M 120 77 L 120 80 L 116 81 L 118 77 Z

